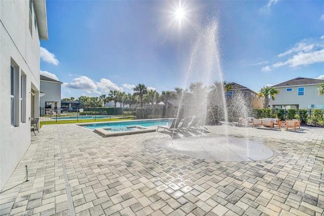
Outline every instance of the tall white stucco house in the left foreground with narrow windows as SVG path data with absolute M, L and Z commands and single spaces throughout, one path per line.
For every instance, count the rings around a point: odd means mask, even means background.
M 0 1 L 0 190 L 30 145 L 30 118 L 39 118 L 39 40 L 48 40 L 45 0 Z

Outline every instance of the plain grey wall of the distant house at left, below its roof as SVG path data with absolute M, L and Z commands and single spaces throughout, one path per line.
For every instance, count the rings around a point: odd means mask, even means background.
M 41 81 L 41 92 L 45 95 L 41 97 L 41 107 L 45 107 L 45 102 L 57 102 L 57 107 L 61 107 L 61 83 Z M 54 108 L 54 104 L 52 104 Z

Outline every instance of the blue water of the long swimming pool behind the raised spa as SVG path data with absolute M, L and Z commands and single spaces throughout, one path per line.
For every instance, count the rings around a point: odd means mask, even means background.
M 134 126 L 139 125 L 143 127 L 150 127 L 150 126 L 162 126 L 162 125 L 171 125 L 173 119 L 158 119 L 158 120 L 135 120 L 135 121 L 127 121 L 127 122 L 109 122 L 109 123 L 95 123 L 95 124 L 85 124 L 79 125 L 91 130 L 95 130 L 95 128 L 124 128 L 126 129 L 127 126 Z M 130 128 L 129 128 L 130 129 Z

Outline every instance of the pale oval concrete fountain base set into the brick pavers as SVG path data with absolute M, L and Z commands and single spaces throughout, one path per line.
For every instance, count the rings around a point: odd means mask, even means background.
M 163 142 L 166 149 L 179 154 L 217 161 L 258 161 L 270 158 L 273 152 L 247 138 L 199 135 Z

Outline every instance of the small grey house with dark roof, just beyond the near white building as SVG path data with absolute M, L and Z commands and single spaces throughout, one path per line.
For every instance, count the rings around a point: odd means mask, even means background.
M 58 114 L 61 108 L 61 85 L 63 83 L 49 77 L 41 75 L 41 92 L 44 92 L 45 95 L 41 97 L 39 101 L 40 107 L 45 107 L 41 109 L 41 116 L 45 115 L 44 111 L 57 110 Z

